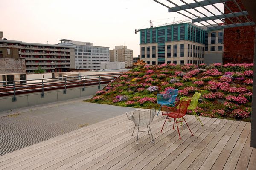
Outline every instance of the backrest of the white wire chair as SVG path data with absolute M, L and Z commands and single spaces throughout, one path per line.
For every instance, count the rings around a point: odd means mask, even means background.
M 136 109 L 133 112 L 134 124 L 137 126 L 150 125 L 154 116 L 157 114 L 156 109 L 140 110 Z

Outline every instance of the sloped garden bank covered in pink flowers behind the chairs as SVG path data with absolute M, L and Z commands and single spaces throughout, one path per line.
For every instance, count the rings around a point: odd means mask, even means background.
M 159 108 L 157 93 L 178 89 L 180 97 L 201 93 L 198 115 L 250 121 L 253 64 L 138 66 L 98 91 L 89 102 Z

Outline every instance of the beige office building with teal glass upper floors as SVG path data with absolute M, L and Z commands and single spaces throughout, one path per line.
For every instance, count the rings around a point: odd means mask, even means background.
M 204 63 L 205 31 L 192 23 L 165 25 L 140 32 L 140 60 L 147 64 Z

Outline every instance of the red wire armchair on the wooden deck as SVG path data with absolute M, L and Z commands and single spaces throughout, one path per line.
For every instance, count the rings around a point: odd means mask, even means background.
M 174 118 L 174 121 L 173 121 L 173 129 L 174 129 L 174 123 L 176 121 L 176 125 L 177 125 L 177 129 L 178 129 L 178 133 L 179 133 L 179 136 L 180 136 L 180 130 L 179 130 L 179 126 L 178 126 L 178 123 L 180 122 L 183 122 L 185 121 L 186 123 L 186 120 L 184 118 L 184 116 L 186 115 L 186 111 L 189 107 L 189 104 L 190 104 L 190 101 L 191 100 L 187 100 L 187 101 L 178 101 L 174 107 L 168 107 L 168 106 L 162 106 L 161 110 L 162 110 L 162 115 L 166 115 L 166 120 L 167 119 L 170 119 L 170 118 Z M 168 118 L 169 117 L 169 118 Z M 183 118 L 181 119 L 181 121 L 177 121 L 176 118 Z M 166 120 L 164 121 L 164 124 L 166 123 Z M 164 126 L 163 124 L 163 126 Z M 186 125 L 188 126 L 189 128 L 189 125 L 186 123 Z M 163 127 L 162 127 L 162 130 L 161 132 L 163 131 Z M 191 132 L 190 128 L 189 128 L 189 131 Z M 193 133 L 191 132 L 192 136 L 193 136 Z M 181 137 L 180 137 L 181 139 Z

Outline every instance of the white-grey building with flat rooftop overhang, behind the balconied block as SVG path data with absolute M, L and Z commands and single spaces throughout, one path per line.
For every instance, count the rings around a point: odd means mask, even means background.
M 109 61 L 109 47 L 93 46 L 93 43 L 62 39 L 59 45 L 75 46 L 75 68 L 100 70 L 101 62 Z

